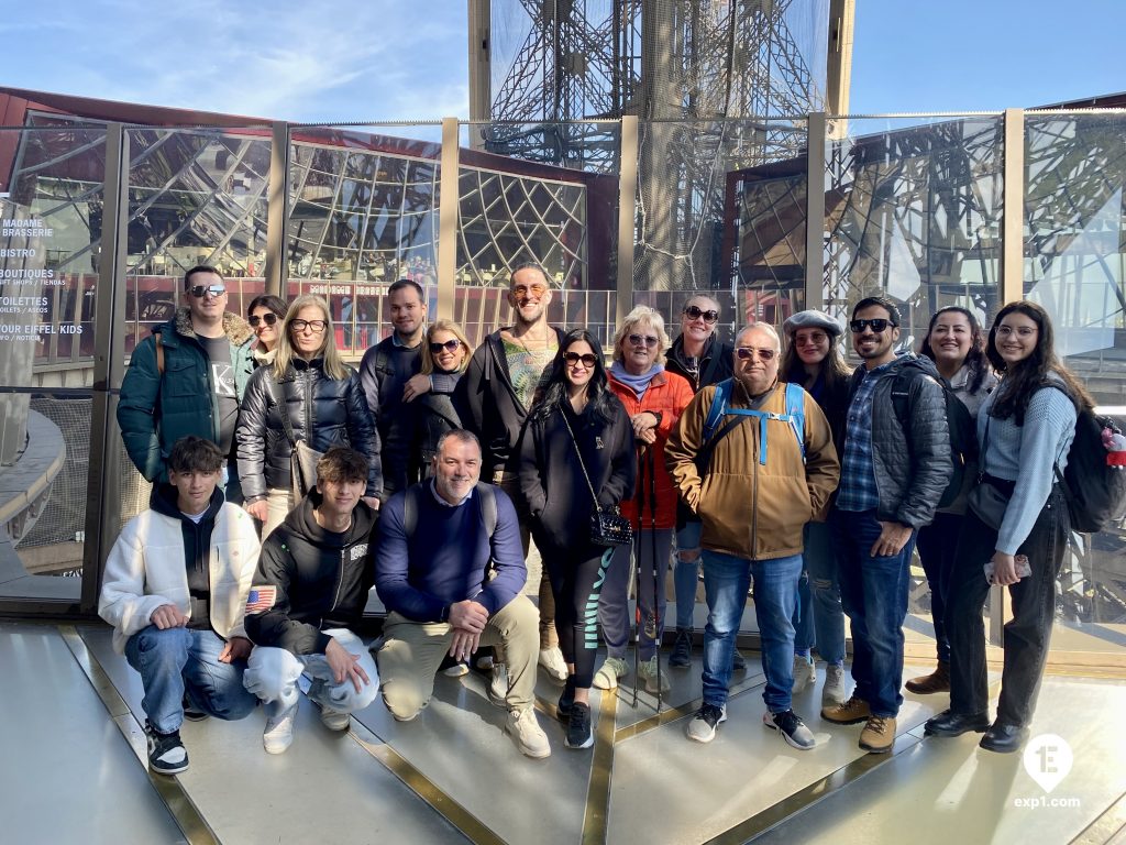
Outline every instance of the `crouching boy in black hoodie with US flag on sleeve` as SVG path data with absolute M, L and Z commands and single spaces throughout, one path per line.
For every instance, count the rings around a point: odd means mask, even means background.
M 269 754 L 293 742 L 303 673 L 330 730 L 347 730 L 350 713 L 379 691 L 375 661 L 354 631 L 374 580 L 368 540 L 376 514 L 360 500 L 367 459 L 337 446 L 316 475 L 316 487 L 266 539 L 247 602 L 247 634 L 257 648 L 245 685 L 266 703 Z

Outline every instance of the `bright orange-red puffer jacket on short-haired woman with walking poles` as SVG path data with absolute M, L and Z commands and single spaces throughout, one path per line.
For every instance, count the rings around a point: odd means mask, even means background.
M 649 383 L 649 389 L 641 399 L 633 388 L 623 384 L 609 376 L 610 390 L 614 391 L 626 413 L 633 418 L 643 411 L 651 411 L 661 415 L 661 422 L 656 427 L 656 441 L 652 444 L 636 444 L 637 448 L 637 490 L 634 496 L 622 502 L 622 513 L 628 517 L 634 526 L 642 528 L 651 526 L 660 528 L 674 528 L 677 525 L 677 488 L 672 484 L 672 478 L 664 468 L 664 444 L 669 441 L 673 426 L 680 419 L 685 408 L 692 401 L 692 388 L 688 380 L 676 373 L 658 373 L 653 381 Z M 650 473 L 655 482 L 653 488 L 656 492 L 656 508 L 650 510 L 649 497 L 651 492 Z M 644 505 L 638 518 L 638 502 Z

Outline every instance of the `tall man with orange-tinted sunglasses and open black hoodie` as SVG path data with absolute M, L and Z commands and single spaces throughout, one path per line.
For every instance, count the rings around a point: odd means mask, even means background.
M 470 361 L 457 386 L 456 401 L 466 412 L 465 427 L 481 439 L 481 477 L 498 484 L 518 507 L 522 507 L 516 477 L 516 441 L 536 399 L 549 364 L 558 353 L 563 332 L 547 323 L 552 286 L 547 272 L 535 261 L 519 264 L 509 277 L 508 302 L 513 322 L 485 338 Z M 521 521 L 520 540 L 528 557 L 530 537 L 527 519 Z M 503 655 L 493 666 L 493 692 L 503 697 L 508 679 Z M 555 601 L 546 571 L 539 582 L 539 662 L 558 682 L 566 679 L 566 664 L 555 633 Z

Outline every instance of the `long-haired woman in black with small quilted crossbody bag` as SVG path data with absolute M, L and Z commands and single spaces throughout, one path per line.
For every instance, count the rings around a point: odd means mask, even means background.
M 633 496 L 637 461 L 629 417 L 607 386 L 602 347 L 586 329 L 563 337 L 517 452 L 520 492 L 552 581 L 555 629 L 568 664 L 558 702 L 565 744 L 589 748 L 598 594 L 613 552 L 590 541 L 591 488 L 604 509 L 616 509 Z

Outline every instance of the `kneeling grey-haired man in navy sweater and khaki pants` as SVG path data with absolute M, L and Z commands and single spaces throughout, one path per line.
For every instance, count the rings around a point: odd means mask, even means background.
M 481 444 L 454 429 L 438 441 L 434 475 L 395 493 L 377 531 L 375 588 L 387 608 L 379 650 L 383 701 L 400 722 L 429 703 L 443 657 L 466 660 L 503 644 L 509 688 L 506 731 L 522 754 L 551 746 L 533 709 L 539 614 L 521 595 L 528 571 L 516 508 L 479 484 Z

